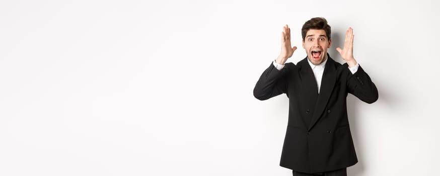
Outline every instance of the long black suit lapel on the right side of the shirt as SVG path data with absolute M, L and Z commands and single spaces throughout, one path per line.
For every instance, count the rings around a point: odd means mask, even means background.
M 324 73 L 322 75 L 321 90 L 318 96 L 318 101 L 316 102 L 311 123 L 309 125 L 309 131 L 313 128 L 315 123 L 318 122 L 333 91 L 333 87 L 336 82 L 336 74 L 337 74 L 334 62 L 335 61 L 330 57 L 330 55 L 327 54 L 327 63 L 325 64 Z M 315 79 L 312 80 L 315 81 Z M 316 90 L 318 89 L 316 88 Z

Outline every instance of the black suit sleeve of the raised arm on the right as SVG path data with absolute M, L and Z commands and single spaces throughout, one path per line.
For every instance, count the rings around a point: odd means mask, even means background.
M 347 63 L 344 65 L 348 67 Z M 348 71 L 347 88 L 348 93 L 368 104 L 376 102 L 379 98 L 376 85 L 360 65 L 354 74 Z

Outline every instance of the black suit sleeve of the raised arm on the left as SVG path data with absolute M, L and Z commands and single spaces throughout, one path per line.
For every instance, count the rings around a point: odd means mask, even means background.
M 264 70 L 255 84 L 254 97 L 258 100 L 267 100 L 282 93 L 287 94 L 287 72 L 287 65 L 278 70 L 270 62 L 269 67 Z

